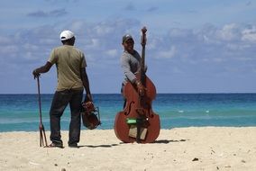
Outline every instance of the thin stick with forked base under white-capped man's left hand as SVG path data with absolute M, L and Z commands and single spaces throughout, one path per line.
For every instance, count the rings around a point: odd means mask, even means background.
M 47 139 L 45 136 L 44 126 L 41 121 L 41 94 L 40 94 L 40 83 L 39 83 L 39 76 L 36 76 L 37 78 L 37 89 L 38 89 L 38 103 L 39 103 L 39 116 L 40 116 L 40 124 L 39 124 L 39 131 L 40 131 L 40 147 L 47 146 Z

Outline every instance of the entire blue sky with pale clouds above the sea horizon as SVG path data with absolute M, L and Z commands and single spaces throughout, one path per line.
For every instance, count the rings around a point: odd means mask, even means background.
M 1 1 L 0 94 L 36 94 L 32 69 L 74 31 L 87 58 L 91 92 L 119 93 L 123 34 L 141 53 L 147 26 L 147 75 L 158 93 L 256 93 L 256 1 Z M 41 76 L 53 93 L 55 66 Z

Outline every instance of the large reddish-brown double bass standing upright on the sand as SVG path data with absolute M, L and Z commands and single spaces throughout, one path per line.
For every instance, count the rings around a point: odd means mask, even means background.
M 155 85 L 145 74 L 146 31 L 142 28 L 141 67 L 136 79 L 145 87 L 145 94 L 139 94 L 137 87 L 127 82 L 123 87 L 126 105 L 123 111 L 115 115 L 114 133 L 123 142 L 151 143 L 160 134 L 160 116 L 152 111 L 152 101 L 156 97 Z

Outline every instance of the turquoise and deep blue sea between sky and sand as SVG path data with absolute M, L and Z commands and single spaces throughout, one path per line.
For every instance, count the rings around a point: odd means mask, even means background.
M 123 110 L 121 94 L 93 94 L 102 125 L 113 129 Z M 50 130 L 52 94 L 41 94 L 42 122 Z M 152 110 L 160 115 L 161 129 L 190 126 L 256 126 L 256 94 L 157 94 Z M 69 106 L 61 117 L 61 130 L 69 130 Z M 0 94 L 0 132 L 38 130 L 37 94 Z M 82 126 L 82 130 L 86 130 Z

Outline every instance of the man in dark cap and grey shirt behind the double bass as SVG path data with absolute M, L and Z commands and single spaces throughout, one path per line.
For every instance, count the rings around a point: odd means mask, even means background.
M 140 70 L 141 67 L 141 56 L 140 54 L 133 49 L 134 40 L 132 35 L 125 34 L 123 36 L 123 55 L 121 57 L 121 67 L 123 68 L 124 80 L 122 84 L 121 93 L 123 94 L 124 85 L 130 81 L 133 85 L 136 85 L 139 91 L 139 94 L 145 94 L 145 87 L 142 85 L 142 82 L 138 80 L 135 76 Z M 126 100 L 124 99 L 123 108 L 125 107 Z

